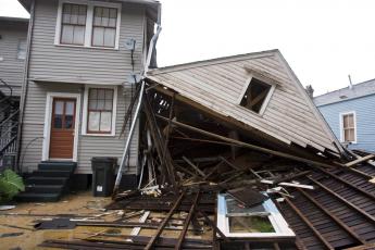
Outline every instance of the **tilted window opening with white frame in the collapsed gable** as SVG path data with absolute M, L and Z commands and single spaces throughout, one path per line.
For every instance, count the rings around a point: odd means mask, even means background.
M 263 114 L 274 88 L 275 85 L 251 76 L 243 86 L 238 104 L 258 114 Z

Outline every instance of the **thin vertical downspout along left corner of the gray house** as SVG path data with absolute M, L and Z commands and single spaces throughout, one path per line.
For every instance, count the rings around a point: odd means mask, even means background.
M 20 166 L 20 155 L 21 155 L 21 148 L 22 148 L 21 141 L 22 141 L 24 110 L 25 110 L 26 96 L 27 96 L 27 90 L 28 90 L 28 67 L 29 67 L 30 48 L 32 48 L 32 41 L 33 41 L 34 17 L 35 17 L 35 0 L 32 2 L 32 7 L 30 7 L 30 18 L 28 22 L 28 29 L 27 29 L 26 60 L 24 64 L 24 78 L 23 78 L 21 100 L 20 100 L 20 117 L 18 117 L 18 129 L 17 129 L 17 145 L 16 145 L 16 170 L 18 173 L 22 172 L 21 166 Z

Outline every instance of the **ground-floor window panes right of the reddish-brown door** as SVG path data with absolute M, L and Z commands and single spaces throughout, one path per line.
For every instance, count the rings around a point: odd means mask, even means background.
M 113 89 L 90 88 L 88 91 L 88 134 L 112 132 Z

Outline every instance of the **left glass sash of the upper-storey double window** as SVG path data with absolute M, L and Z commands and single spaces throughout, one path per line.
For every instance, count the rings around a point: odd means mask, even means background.
M 83 4 L 64 3 L 61 24 L 61 43 L 84 45 L 87 7 Z

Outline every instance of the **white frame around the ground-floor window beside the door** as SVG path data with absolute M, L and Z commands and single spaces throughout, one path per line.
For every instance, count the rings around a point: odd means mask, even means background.
M 112 127 L 110 134 L 96 134 L 87 133 L 88 122 L 88 93 L 90 88 L 107 88 L 113 90 L 113 105 L 112 105 Z M 83 110 L 83 122 L 82 122 L 82 135 L 83 136 L 101 136 L 101 137 L 113 137 L 116 135 L 116 116 L 117 116 L 117 86 L 105 86 L 105 85 L 86 85 L 84 93 L 84 110 Z

